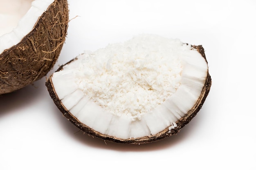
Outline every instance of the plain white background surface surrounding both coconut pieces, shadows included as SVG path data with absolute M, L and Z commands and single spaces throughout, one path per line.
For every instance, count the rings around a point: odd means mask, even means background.
M 69 0 L 69 7 L 74 19 L 47 77 L 85 50 L 154 33 L 203 45 L 211 91 L 177 135 L 127 145 L 79 131 L 43 78 L 0 96 L 0 170 L 256 169 L 255 0 Z

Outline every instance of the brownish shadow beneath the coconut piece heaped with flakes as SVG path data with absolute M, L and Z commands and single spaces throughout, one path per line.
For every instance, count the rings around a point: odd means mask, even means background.
M 170 148 L 175 146 L 176 144 L 186 140 L 186 137 L 190 136 L 189 134 L 193 133 L 196 128 L 196 125 L 200 124 L 200 112 L 196 117 L 194 117 L 189 124 L 183 127 L 177 135 L 172 135 L 160 141 L 155 141 L 149 144 L 141 144 L 141 145 L 132 145 L 132 144 L 120 144 L 110 141 L 104 141 L 97 137 L 89 136 L 87 133 L 79 130 L 76 126 L 74 126 L 70 121 L 68 121 L 65 117 L 62 116 L 61 112 L 56 108 L 56 114 L 58 113 L 59 122 L 61 126 L 64 127 L 67 134 L 70 137 L 73 137 L 75 140 L 79 142 L 95 147 L 102 148 L 108 150 L 118 150 L 118 151 L 153 151 L 153 150 L 162 150 L 165 148 Z

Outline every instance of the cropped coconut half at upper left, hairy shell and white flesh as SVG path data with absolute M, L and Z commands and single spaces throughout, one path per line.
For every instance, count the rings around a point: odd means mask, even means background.
M 0 94 L 44 77 L 56 63 L 68 26 L 67 0 L 3 0 Z

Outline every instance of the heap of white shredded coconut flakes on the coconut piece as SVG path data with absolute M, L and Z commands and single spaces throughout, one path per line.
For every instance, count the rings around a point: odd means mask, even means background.
M 76 83 L 93 102 L 112 114 L 140 118 L 179 88 L 180 51 L 190 48 L 179 40 L 140 35 L 86 52 L 81 62 L 66 67 L 78 70 Z

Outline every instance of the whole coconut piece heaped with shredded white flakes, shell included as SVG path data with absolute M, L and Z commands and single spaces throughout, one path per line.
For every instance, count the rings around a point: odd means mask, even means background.
M 144 144 L 188 124 L 209 93 L 211 77 L 202 46 L 139 35 L 79 55 L 46 86 L 80 130 L 108 141 Z

